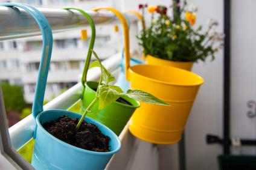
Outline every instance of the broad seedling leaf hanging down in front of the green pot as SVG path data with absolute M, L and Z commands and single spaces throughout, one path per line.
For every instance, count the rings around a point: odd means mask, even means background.
M 100 85 L 98 109 L 103 109 L 112 102 L 115 102 L 121 94 L 120 89 L 115 86 Z

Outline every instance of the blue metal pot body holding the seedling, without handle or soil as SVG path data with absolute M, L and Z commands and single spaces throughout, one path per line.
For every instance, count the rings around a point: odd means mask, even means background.
M 66 142 L 60 141 L 43 129 L 42 124 L 56 120 L 62 115 L 70 118 L 81 118 L 81 114 L 75 112 L 50 110 L 43 111 L 36 117 L 36 142 L 34 144 L 32 165 L 37 170 L 45 169 L 97 169 L 106 167 L 111 157 L 121 148 L 121 142 L 112 130 L 92 118 L 85 121 L 97 125 L 101 132 L 110 138 L 110 152 L 99 153 L 74 147 Z

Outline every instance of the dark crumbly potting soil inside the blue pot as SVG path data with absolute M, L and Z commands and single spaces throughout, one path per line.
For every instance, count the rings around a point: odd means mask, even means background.
M 95 124 L 83 121 L 80 128 L 76 126 L 78 118 L 69 118 L 64 115 L 57 120 L 43 124 L 43 128 L 56 138 L 85 150 L 108 152 L 109 136 L 103 135 Z

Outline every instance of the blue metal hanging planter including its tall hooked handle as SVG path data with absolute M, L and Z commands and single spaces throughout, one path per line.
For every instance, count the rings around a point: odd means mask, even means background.
M 57 121 L 62 119 L 64 115 L 68 119 L 82 118 L 82 115 L 69 111 L 57 109 L 43 111 L 43 98 L 45 94 L 46 79 L 48 76 L 51 52 L 53 47 L 53 34 L 46 18 L 36 8 L 31 7 L 30 5 L 4 3 L 1 4 L 1 6 L 23 8 L 36 20 L 43 37 L 42 59 L 39 65 L 39 76 L 36 83 L 36 91 L 34 94 L 33 102 L 33 117 L 36 120 L 36 129 L 34 130 L 35 145 L 31 165 L 39 170 L 85 169 L 85 167 L 89 167 L 90 169 L 104 169 L 113 154 L 117 153 L 117 151 L 120 150 L 121 147 L 121 143 L 117 135 L 115 135 L 115 133 L 108 129 L 106 126 L 98 123 L 95 120 L 92 120 L 91 118 L 81 119 L 81 121 L 83 122 L 83 128 L 87 126 L 94 127 L 95 129 L 98 129 L 98 135 L 103 136 L 104 139 L 109 139 L 109 144 L 107 144 L 106 141 L 106 144 L 109 145 L 107 149 L 108 151 L 106 152 L 90 151 L 85 150 L 82 147 L 75 147 L 76 145 L 71 145 L 67 142 L 63 142 L 63 140 L 54 137 L 53 135 L 51 135 L 52 133 L 50 134 L 49 131 L 46 130 L 46 124 L 51 124 L 53 122 L 57 123 Z M 80 12 L 85 14 L 82 10 L 80 10 Z M 85 123 L 84 120 L 87 123 Z M 58 127 L 58 129 L 65 130 L 65 128 L 60 126 Z M 82 131 L 78 127 L 76 134 L 78 134 L 77 132 L 84 133 L 85 131 Z M 92 130 L 87 129 L 86 132 L 91 133 Z M 70 133 L 58 134 L 63 136 L 69 136 Z M 92 138 L 93 136 L 94 135 L 91 135 Z M 72 136 L 72 138 L 74 138 L 74 136 Z M 77 141 L 77 145 L 79 144 L 80 142 Z M 91 145 L 95 145 L 95 142 L 92 142 Z

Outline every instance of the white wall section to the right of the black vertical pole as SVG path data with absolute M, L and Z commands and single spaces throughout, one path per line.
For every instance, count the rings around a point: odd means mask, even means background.
M 238 138 L 255 139 L 256 118 L 249 119 L 247 102 L 256 101 L 256 1 L 231 1 L 231 135 Z M 233 148 L 234 154 L 256 154 L 255 147 Z

